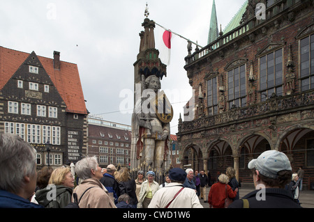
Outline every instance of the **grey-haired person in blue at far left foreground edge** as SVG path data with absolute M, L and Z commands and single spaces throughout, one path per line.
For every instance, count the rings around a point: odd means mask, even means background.
M 0 134 L 0 208 L 42 208 L 36 188 L 36 150 L 13 134 Z

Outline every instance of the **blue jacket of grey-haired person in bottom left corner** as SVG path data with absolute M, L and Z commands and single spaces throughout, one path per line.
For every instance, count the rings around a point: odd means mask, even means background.
M 0 208 L 43 208 L 8 191 L 0 190 Z

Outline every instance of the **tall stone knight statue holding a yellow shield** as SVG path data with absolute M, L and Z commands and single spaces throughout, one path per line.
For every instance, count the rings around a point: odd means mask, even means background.
M 167 151 L 173 109 L 163 91 L 159 91 L 158 77 L 151 75 L 142 79 L 142 85 L 142 97 L 135 103 L 132 116 L 131 161 L 133 167 L 145 162 L 161 172 L 170 161 Z

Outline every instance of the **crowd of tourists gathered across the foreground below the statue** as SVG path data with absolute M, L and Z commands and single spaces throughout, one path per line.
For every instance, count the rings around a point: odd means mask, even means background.
M 154 180 L 153 171 L 138 171 L 133 180 L 128 168 L 100 168 L 96 157 L 77 161 L 75 175 L 68 166 L 37 172 L 36 150 L 19 136 L 0 134 L 0 208 L 68 208 L 71 203 L 80 208 L 203 208 L 200 200 L 210 208 L 301 207 L 299 180 L 283 152 L 265 151 L 248 168 L 256 190 L 241 199 L 232 167 L 213 184 L 204 170 L 191 168 L 170 169 L 163 184 Z

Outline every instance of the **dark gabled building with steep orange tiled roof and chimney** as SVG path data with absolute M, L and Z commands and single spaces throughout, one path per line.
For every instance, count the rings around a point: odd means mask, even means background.
M 37 150 L 38 168 L 87 152 L 87 109 L 77 65 L 0 47 L 0 132 Z M 48 152 L 49 151 L 49 157 Z

